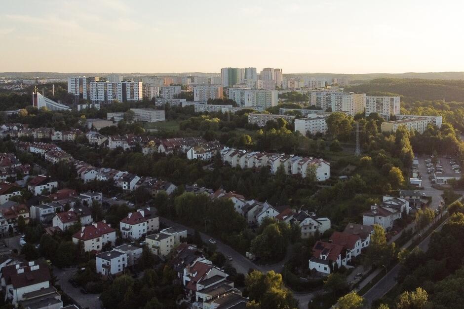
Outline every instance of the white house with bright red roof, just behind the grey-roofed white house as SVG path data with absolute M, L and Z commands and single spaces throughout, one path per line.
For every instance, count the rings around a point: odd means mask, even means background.
M 112 245 L 116 241 L 116 230 L 105 220 L 100 222 L 92 222 L 92 224 L 83 226 L 80 231 L 73 235 L 73 242 L 83 242 L 84 251 L 101 251 L 102 247 L 111 242 Z

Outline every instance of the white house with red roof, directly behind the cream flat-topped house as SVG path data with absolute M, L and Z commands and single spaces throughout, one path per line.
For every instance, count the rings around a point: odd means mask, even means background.
M 150 207 L 137 209 L 119 222 L 119 229 L 122 238 L 138 240 L 159 230 L 159 218 L 150 211 Z

